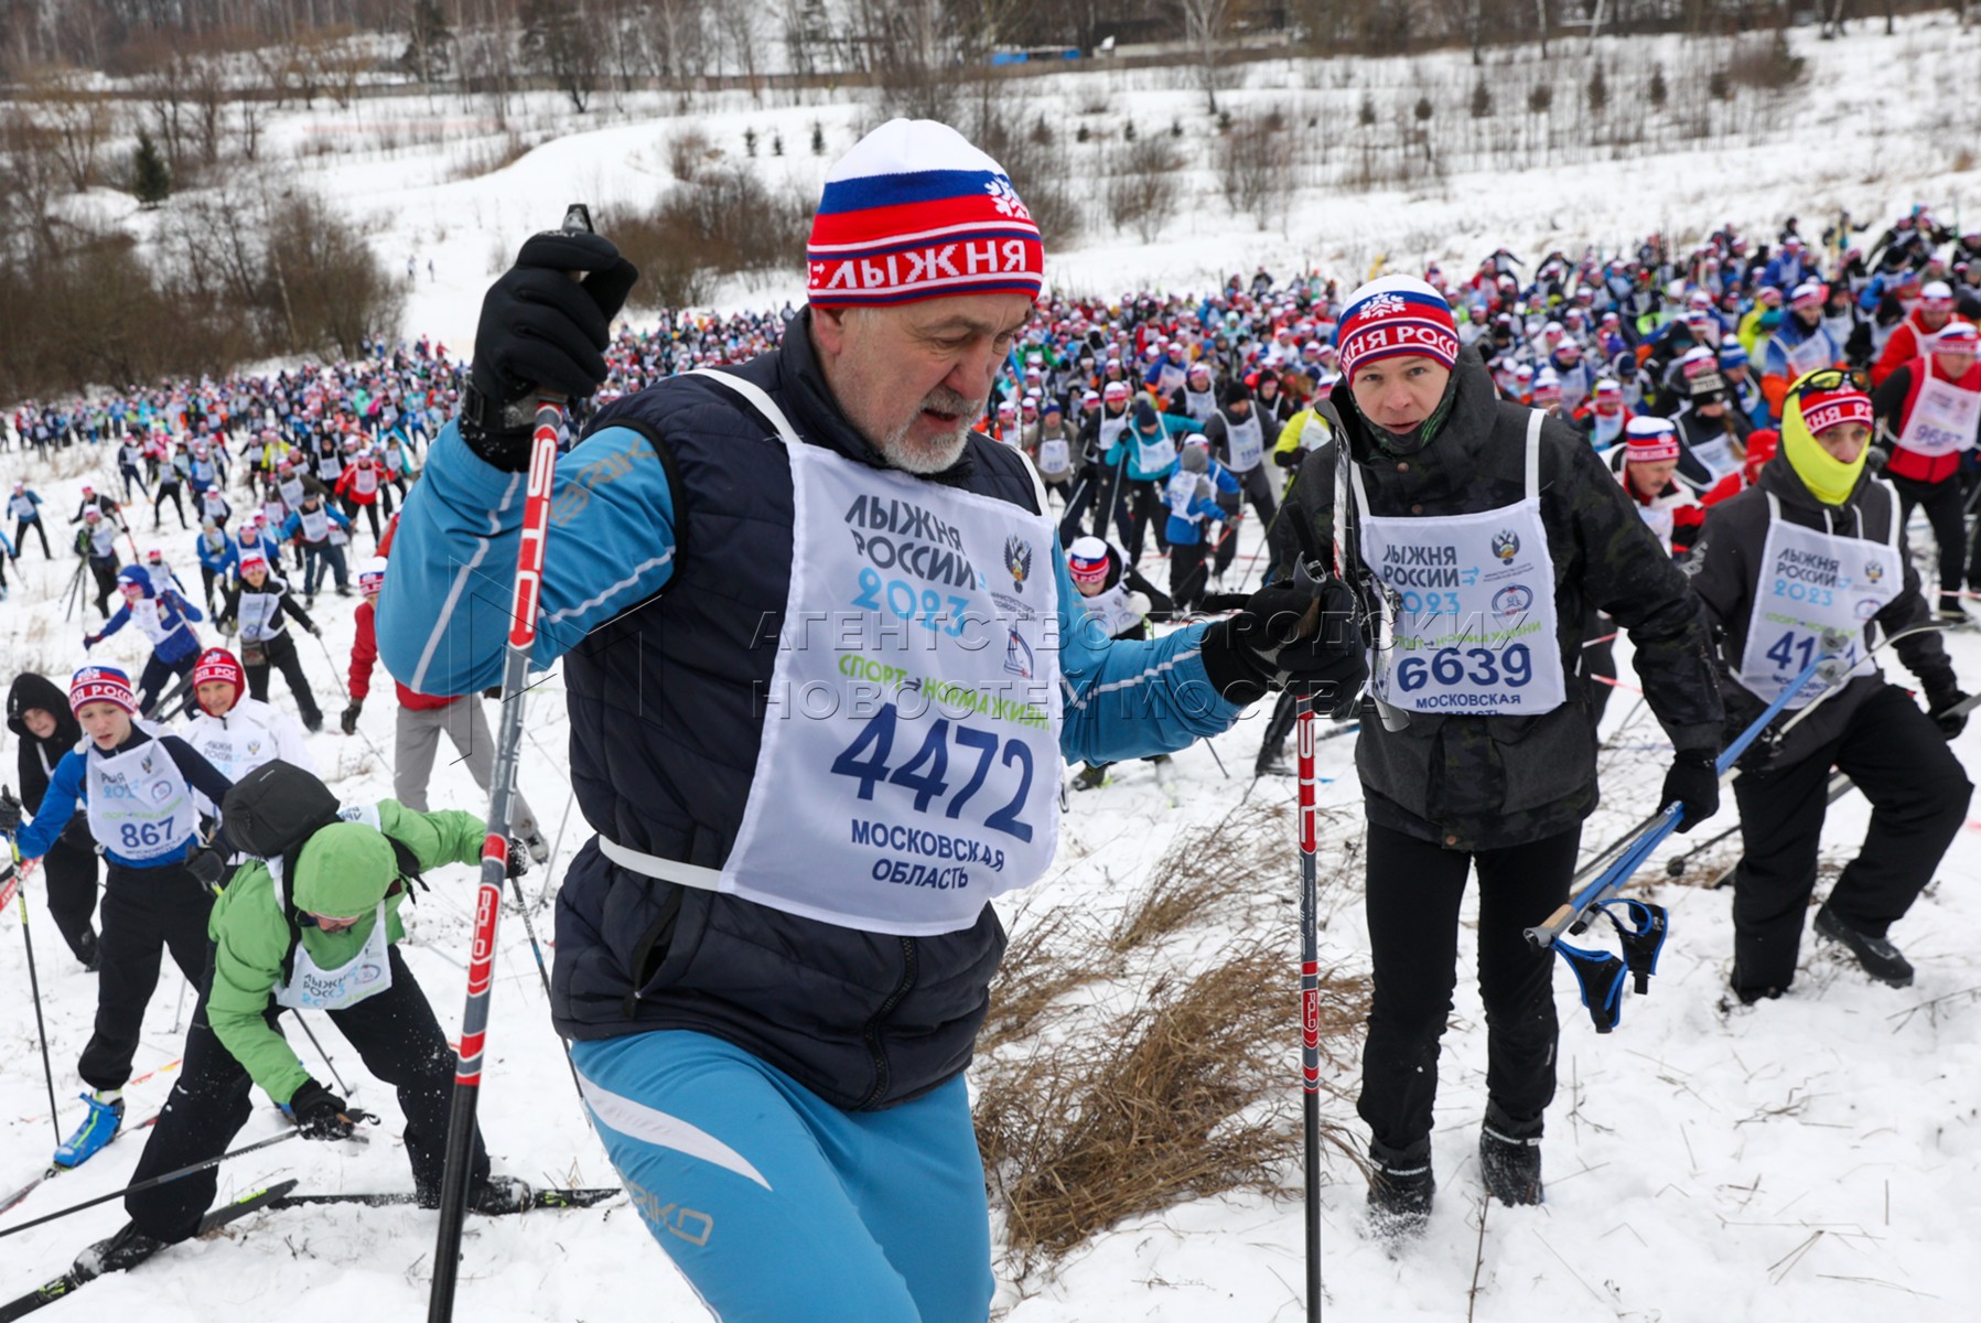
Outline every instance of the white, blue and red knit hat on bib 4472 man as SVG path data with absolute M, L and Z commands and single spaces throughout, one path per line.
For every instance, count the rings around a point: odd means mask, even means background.
M 889 119 L 840 156 L 804 246 L 814 307 L 1038 297 L 1046 246 L 1004 166 L 933 119 Z

